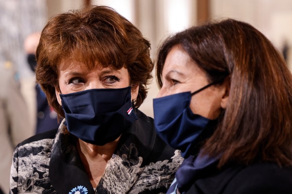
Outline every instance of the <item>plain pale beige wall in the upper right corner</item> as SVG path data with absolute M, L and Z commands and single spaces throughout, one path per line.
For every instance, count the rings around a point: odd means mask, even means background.
M 281 51 L 292 46 L 292 0 L 211 0 L 212 18 L 232 17 L 249 22 Z M 291 49 L 288 65 L 291 69 Z

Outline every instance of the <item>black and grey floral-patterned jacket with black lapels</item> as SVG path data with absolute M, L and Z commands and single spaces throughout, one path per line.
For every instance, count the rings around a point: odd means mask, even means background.
M 183 161 L 156 135 L 153 118 L 137 110 L 96 188 L 64 125 L 20 143 L 11 169 L 12 193 L 166 193 Z

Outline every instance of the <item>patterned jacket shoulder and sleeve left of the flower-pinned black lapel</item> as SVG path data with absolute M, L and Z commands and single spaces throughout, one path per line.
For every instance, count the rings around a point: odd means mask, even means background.
M 57 131 L 36 134 L 16 146 L 10 174 L 12 193 L 30 189 L 40 192 L 47 186 L 50 155 Z

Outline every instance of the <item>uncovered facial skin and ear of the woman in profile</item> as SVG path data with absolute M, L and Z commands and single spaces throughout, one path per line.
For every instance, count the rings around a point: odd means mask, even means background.
M 180 46 L 168 53 L 162 71 L 163 85 L 157 97 L 175 93 L 194 92 L 209 83 L 205 72 Z M 215 119 L 226 108 L 229 86 L 224 81 L 220 86 L 210 86 L 192 96 L 190 108 L 195 114 Z

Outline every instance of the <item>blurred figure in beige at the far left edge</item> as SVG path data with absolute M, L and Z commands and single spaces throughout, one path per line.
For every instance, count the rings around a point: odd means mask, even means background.
M 28 110 L 12 62 L 0 55 L 0 187 L 9 192 L 9 174 L 15 146 L 33 135 Z

